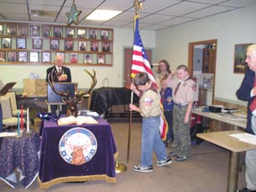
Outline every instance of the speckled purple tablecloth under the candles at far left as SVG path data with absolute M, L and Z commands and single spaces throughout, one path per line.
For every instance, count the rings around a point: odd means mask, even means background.
M 12 188 L 17 185 L 16 172 L 20 172 L 20 183 L 28 188 L 38 175 L 40 138 L 35 132 L 22 137 L 1 138 L 0 180 Z

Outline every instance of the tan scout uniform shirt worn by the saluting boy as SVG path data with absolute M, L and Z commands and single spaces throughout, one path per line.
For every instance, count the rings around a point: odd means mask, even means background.
M 174 94 L 176 87 L 180 82 L 180 87 L 176 94 Z M 175 104 L 185 106 L 188 102 L 194 100 L 194 93 L 196 91 L 196 83 L 188 77 L 186 80 L 179 80 L 172 88 L 172 98 Z

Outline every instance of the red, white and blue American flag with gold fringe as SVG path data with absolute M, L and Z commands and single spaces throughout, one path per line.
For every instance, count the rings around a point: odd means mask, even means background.
M 134 20 L 135 20 L 135 30 L 134 30 L 133 52 L 132 52 L 131 76 L 132 78 L 134 78 L 138 73 L 141 73 L 141 72 L 148 73 L 149 79 L 152 81 L 153 85 L 157 89 L 156 80 L 155 80 L 155 77 L 153 76 L 153 72 L 150 67 L 147 54 L 145 52 L 144 46 L 140 38 L 139 17 L 135 16 Z M 161 118 L 160 118 L 159 131 L 160 131 L 162 140 L 166 140 L 168 124 L 164 117 L 164 108 L 162 103 L 161 103 Z

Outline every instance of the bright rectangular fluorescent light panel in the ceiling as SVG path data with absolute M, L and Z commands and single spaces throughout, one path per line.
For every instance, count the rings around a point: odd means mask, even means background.
M 120 13 L 121 11 L 95 10 L 85 20 L 110 20 Z

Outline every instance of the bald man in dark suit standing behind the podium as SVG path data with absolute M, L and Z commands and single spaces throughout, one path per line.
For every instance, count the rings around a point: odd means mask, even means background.
M 59 83 L 71 83 L 71 73 L 70 69 L 63 66 L 63 58 L 61 55 L 56 55 L 54 60 L 55 65 L 51 68 L 47 68 L 46 70 L 46 82 L 49 83 L 50 81 L 59 82 Z M 53 71 L 53 72 L 52 72 Z M 52 75 L 51 75 L 52 73 Z M 58 106 L 51 105 L 52 113 L 56 113 Z M 64 105 L 62 107 L 62 113 L 66 114 L 67 107 Z

